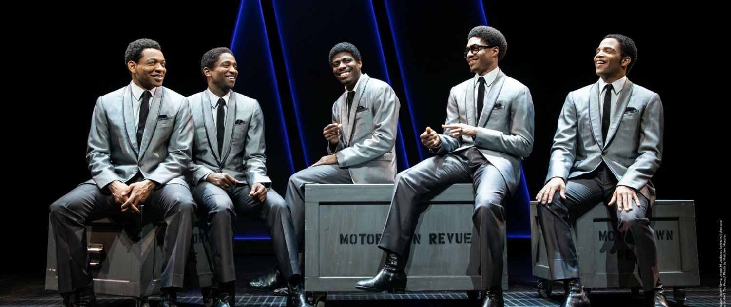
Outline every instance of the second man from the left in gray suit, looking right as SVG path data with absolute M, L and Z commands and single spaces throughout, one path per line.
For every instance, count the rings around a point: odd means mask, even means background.
M 219 282 L 219 289 L 203 289 L 204 298 L 218 300 L 219 306 L 235 305 L 233 230 L 241 213 L 267 225 L 281 274 L 289 282 L 287 306 L 311 306 L 302 287 L 292 216 L 284 199 L 270 188 L 259 102 L 231 91 L 238 67 L 229 48 L 208 50 L 200 70 L 208 89 L 188 97 L 194 146 L 187 173 L 195 201 L 208 211 L 213 270 Z

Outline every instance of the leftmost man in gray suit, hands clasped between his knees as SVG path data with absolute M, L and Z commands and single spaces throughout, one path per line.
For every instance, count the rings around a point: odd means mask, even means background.
M 50 205 L 65 306 L 96 305 L 86 224 L 140 213 L 143 204 L 165 223 L 160 306 L 175 306 L 183 287 L 196 208 L 182 175 L 192 149 L 188 100 L 162 87 L 165 58 L 154 40 L 129 43 L 124 61 L 132 82 L 99 97 L 94 107 L 86 151 L 91 180 Z

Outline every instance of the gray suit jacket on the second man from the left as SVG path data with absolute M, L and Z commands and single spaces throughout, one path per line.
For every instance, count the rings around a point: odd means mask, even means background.
M 188 97 L 194 124 L 193 160 L 186 172 L 192 184 L 208 173 L 227 173 L 240 183 L 270 186 L 264 154 L 264 118 L 259 102 L 231 91 L 222 154 L 207 91 Z

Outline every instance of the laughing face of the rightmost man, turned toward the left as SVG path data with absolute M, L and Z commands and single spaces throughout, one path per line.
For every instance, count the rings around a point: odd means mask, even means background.
M 596 75 L 606 83 L 613 83 L 626 75 L 627 65 L 632 61 L 629 56 L 622 57 L 622 50 L 617 39 L 608 38 L 599 43 L 594 56 Z

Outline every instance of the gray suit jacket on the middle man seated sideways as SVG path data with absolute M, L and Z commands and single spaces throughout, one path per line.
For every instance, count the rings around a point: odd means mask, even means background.
M 355 99 L 347 110 L 347 94 L 333 104 L 333 123 L 343 124 L 334 152 L 338 165 L 348 167 L 353 183 L 393 183 L 398 132 L 398 97 L 387 83 L 360 76 Z

